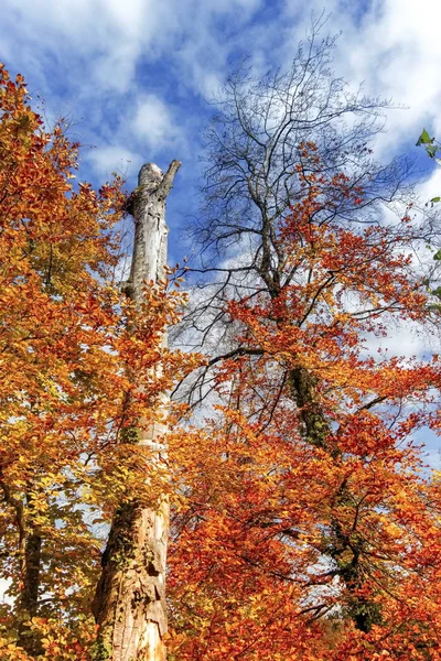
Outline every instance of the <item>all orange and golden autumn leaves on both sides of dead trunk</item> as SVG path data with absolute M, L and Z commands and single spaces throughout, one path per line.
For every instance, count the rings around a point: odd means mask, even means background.
M 94 658 L 108 523 L 161 494 L 171 661 L 441 658 L 441 498 L 413 441 L 440 426 L 440 367 L 369 350 L 391 323 L 437 321 L 411 210 L 392 230 L 344 223 L 332 210 L 363 188 L 313 174 L 300 145 L 282 278 L 225 297 L 239 349 L 211 410 L 172 410 L 165 473 L 132 431 L 201 362 L 161 346 L 182 297 L 146 283 L 135 308 L 118 290 L 121 182 L 77 184 L 65 127 L 29 102 L 2 68 L 1 659 Z

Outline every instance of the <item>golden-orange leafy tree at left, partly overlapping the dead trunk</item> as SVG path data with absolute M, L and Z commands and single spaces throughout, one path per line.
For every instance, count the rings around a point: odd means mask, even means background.
M 103 627 L 95 640 L 90 613 L 103 538 L 118 511 L 154 512 L 169 488 L 138 434 L 164 422 L 163 392 L 184 365 L 163 343 L 180 299 L 166 292 L 164 250 L 154 278 L 135 259 L 135 294 L 115 281 L 116 223 L 146 195 L 127 201 L 118 178 L 98 193 L 76 184 L 77 145 L 63 122 L 44 128 L 4 67 L 0 105 L 0 572 L 13 598 L 1 607 L 1 658 L 108 659 L 114 641 L 105 648 Z M 151 249 L 144 229 L 137 249 L 143 237 Z M 105 573 L 130 555 L 112 555 L 111 535 Z M 97 594 L 101 625 L 103 582 Z

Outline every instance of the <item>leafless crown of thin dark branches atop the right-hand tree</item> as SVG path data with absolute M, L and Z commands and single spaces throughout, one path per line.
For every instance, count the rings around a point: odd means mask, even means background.
M 234 349 L 235 328 L 225 312 L 224 296 L 243 297 L 266 292 L 270 297 L 293 278 L 278 241 L 278 223 L 304 195 L 304 175 L 347 176 L 346 189 L 363 189 L 363 201 L 322 184 L 326 204 L 314 214 L 321 225 L 385 224 L 385 206 L 401 213 L 412 195 L 412 165 L 396 158 L 384 165 L 370 149 L 384 130 L 388 101 L 349 91 L 331 69 L 335 37 L 319 39 L 323 20 L 313 22 L 310 37 L 301 43 L 288 73 L 255 78 L 246 66 L 227 79 L 216 113 L 205 137 L 206 163 L 202 186 L 203 206 L 190 236 L 201 259 L 190 271 L 201 274 L 194 285 L 193 304 L 173 337 L 220 359 L 219 347 Z M 320 162 L 304 155 L 313 143 Z M 318 185 L 318 184 L 314 184 Z M 437 214 L 426 212 L 423 221 L 409 232 L 415 240 L 435 235 Z M 397 229 L 389 221 L 390 237 Z M 399 231 L 402 231 L 401 228 Z M 225 339 L 225 345 L 223 345 Z M 233 344 L 232 344 L 233 343 Z M 209 379 L 209 367 L 196 384 Z M 183 388 L 180 392 L 182 394 Z M 191 398 L 202 390 L 193 384 Z

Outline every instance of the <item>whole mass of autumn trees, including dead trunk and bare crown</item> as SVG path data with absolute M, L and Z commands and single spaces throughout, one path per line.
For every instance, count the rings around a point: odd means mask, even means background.
M 227 80 L 173 269 L 180 163 L 77 182 L 1 67 L 2 659 L 440 658 L 438 351 L 372 348 L 434 337 L 439 213 L 332 47 Z

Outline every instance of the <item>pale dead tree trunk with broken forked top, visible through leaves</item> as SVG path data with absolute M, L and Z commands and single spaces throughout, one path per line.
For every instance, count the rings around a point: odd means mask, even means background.
M 147 163 L 139 173 L 130 209 L 135 217 L 135 245 L 126 286 L 126 293 L 138 304 L 146 281 L 158 283 L 164 274 L 165 199 L 180 165 L 173 161 L 163 174 L 157 165 Z M 163 432 L 162 425 L 153 425 L 139 433 L 139 443 L 150 447 L 152 460 L 160 460 L 157 440 Z M 168 533 L 165 497 L 154 508 L 142 502 L 122 502 L 115 513 L 93 603 L 99 625 L 98 661 L 165 660 Z

